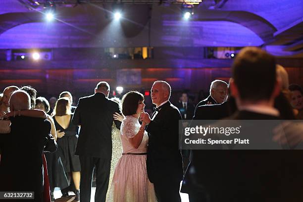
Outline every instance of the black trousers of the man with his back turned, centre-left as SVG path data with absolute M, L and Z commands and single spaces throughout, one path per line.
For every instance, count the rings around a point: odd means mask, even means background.
M 95 202 L 105 202 L 109 182 L 110 159 L 80 155 L 80 201 L 91 201 L 92 179 L 96 168 Z

